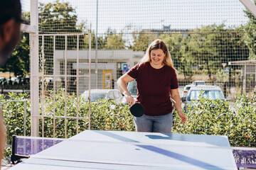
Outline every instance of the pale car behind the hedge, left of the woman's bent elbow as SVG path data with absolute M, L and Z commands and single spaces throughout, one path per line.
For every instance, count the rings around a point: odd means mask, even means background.
M 89 101 L 89 90 L 81 94 L 85 101 Z M 106 100 L 116 101 L 117 104 L 122 102 L 122 93 L 117 89 L 91 89 L 90 90 L 90 101 L 96 102 L 99 99 L 105 98 Z

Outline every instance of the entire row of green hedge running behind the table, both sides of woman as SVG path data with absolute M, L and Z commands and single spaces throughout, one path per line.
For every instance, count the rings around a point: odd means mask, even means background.
M 9 100 L 27 101 L 26 108 L 26 135 L 31 135 L 31 101 L 28 94 L 10 93 Z M 68 118 L 62 116 L 66 113 Z M 6 102 L 4 95 L 0 95 L 1 103 Z M 42 100 L 41 100 L 42 101 Z M 44 104 L 40 103 L 39 113 L 53 115 L 53 91 L 44 97 Z M 233 147 L 255 147 L 256 145 L 256 96 L 249 98 L 247 95 L 239 95 L 235 101 L 235 110 L 231 110 L 228 101 L 210 101 L 201 98 L 201 101 L 194 103 L 191 109 L 188 107 L 188 121 L 180 124 L 181 119 L 176 111 L 174 112 L 174 126 L 172 132 L 183 134 L 199 135 L 227 135 L 230 145 Z M 77 108 L 78 116 L 89 117 L 89 103 L 82 98 L 76 98 L 75 94 L 68 94 L 65 98 L 65 91 L 59 89 L 55 93 L 55 137 L 65 137 L 65 124 L 67 125 L 67 137 L 76 135 Z M 134 122 L 128 105 L 117 105 L 113 101 L 99 100 L 97 103 L 90 103 L 90 129 L 91 130 L 124 130 L 134 131 Z M 23 103 L 9 102 L 2 105 L 4 121 L 6 123 L 7 144 L 11 144 L 12 135 L 23 135 Z M 40 136 L 53 137 L 53 118 L 39 119 Z M 44 131 L 42 132 L 42 129 Z M 78 132 L 89 129 L 89 121 L 82 119 L 78 121 Z M 6 151 L 6 153 L 9 153 Z

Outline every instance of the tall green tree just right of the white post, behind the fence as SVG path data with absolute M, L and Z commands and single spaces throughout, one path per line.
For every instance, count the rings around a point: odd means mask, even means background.
M 43 4 L 39 6 L 39 31 L 40 33 L 83 33 L 86 29 L 86 22 L 78 25 L 78 16 L 75 8 L 68 2 L 60 3 L 55 1 L 53 3 Z M 44 45 L 43 45 L 44 44 Z M 44 49 L 44 61 L 40 57 L 41 63 L 44 62 L 44 74 L 53 74 L 53 36 L 45 36 L 44 41 L 39 38 L 39 47 Z M 67 49 L 75 50 L 77 48 L 77 36 L 67 36 Z M 84 36 L 80 36 L 80 49 L 85 48 Z M 41 49 L 42 50 L 42 49 Z M 55 50 L 65 50 L 65 35 L 56 36 Z M 41 64 L 42 68 L 42 64 Z

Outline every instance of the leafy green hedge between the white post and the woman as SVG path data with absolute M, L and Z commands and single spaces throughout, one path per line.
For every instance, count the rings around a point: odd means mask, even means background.
M 65 115 L 65 91 L 60 89 L 55 94 L 55 115 Z M 50 91 L 50 96 L 44 97 L 44 105 L 40 105 L 40 114 L 53 115 L 53 91 Z M 75 94 L 68 95 L 67 101 L 67 116 L 77 116 L 77 103 L 79 106 L 78 116 L 81 118 L 89 117 L 89 103 L 85 102 L 81 97 L 76 98 Z M 134 130 L 132 115 L 129 113 L 129 106 L 119 104 L 114 101 L 98 100 L 96 103 L 90 103 L 90 127 L 92 130 Z M 65 121 L 67 123 L 67 137 L 76 135 L 76 120 L 65 118 L 55 119 L 55 137 L 65 137 Z M 42 134 L 42 119 L 40 119 L 40 136 L 53 137 L 53 118 L 44 118 L 44 131 Z M 89 121 L 87 119 L 79 120 L 78 132 L 89 129 Z

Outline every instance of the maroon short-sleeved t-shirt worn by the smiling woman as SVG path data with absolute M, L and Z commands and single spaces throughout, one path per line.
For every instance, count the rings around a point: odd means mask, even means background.
M 127 74 L 137 81 L 137 99 L 145 108 L 145 115 L 166 115 L 172 112 L 171 89 L 178 89 L 176 72 L 164 65 L 154 69 L 149 62 L 137 64 Z

